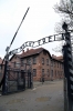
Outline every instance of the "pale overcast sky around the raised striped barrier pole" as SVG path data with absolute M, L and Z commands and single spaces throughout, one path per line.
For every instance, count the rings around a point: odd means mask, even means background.
M 10 50 L 21 47 L 25 41 L 34 41 L 54 34 L 55 23 L 61 17 L 54 12 L 59 0 L 0 0 L 0 57 L 4 57 L 6 48 L 10 44 L 28 7 L 30 10 L 14 39 Z M 58 42 L 42 46 L 51 54 Z

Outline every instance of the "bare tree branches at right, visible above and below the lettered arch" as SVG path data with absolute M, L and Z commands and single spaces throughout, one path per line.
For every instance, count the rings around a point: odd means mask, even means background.
M 69 29 L 73 30 L 73 0 L 61 0 L 60 3 L 54 6 L 55 12 L 61 14 L 62 21 L 55 24 L 55 32 L 63 32 L 62 24 L 65 21 L 69 24 Z M 53 50 L 61 52 L 63 43 L 56 46 Z

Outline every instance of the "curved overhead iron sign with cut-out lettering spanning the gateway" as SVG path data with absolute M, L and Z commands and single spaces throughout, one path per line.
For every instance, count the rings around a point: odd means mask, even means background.
M 60 40 L 64 40 L 64 33 L 49 36 L 49 37 L 42 38 L 38 41 L 27 41 L 20 48 L 15 49 L 13 51 L 10 51 L 9 56 L 19 53 L 27 47 L 35 48 L 35 47 L 42 46 L 42 44 L 48 43 L 48 42 L 60 41 Z

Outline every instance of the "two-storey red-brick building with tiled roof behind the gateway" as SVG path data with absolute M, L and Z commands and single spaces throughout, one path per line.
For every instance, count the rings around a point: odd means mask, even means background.
M 42 77 L 44 80 L 62 79 L 63 71 L 63 58 L 51 56 L 50 52 L 43 48 L 27 50 L 21 54 L 14 54 L 10 62 L 11 67 L 18 69 L 24 69 L 24 64 L 31 64 L 33 72 L 33 80 L 41 81 Z

